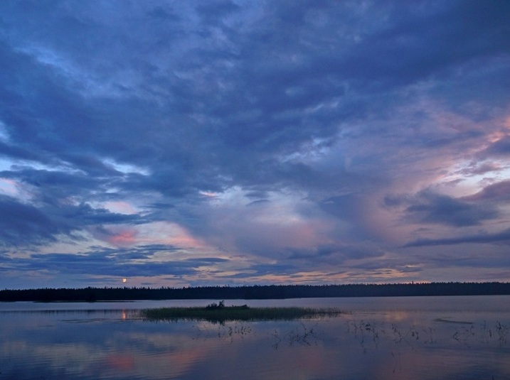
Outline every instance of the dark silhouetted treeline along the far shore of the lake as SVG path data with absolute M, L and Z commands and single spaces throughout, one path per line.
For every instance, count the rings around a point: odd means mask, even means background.
M 39 288 L 0 291 L 0 301 L 280 299 L 423 295 L 509 295 L 510 283 L 198 286 L 188 288 Z

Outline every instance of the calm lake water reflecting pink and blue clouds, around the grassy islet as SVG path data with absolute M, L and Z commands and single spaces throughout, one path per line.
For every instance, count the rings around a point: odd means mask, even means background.
M 510 379 L 510 296 L 225 300 L 340 308 L 292 321 L 149 322 L 218 300 L 0 303 L 6 379 Z

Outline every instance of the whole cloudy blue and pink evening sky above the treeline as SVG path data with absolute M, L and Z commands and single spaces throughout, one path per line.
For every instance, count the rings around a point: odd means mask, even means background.
M 0 1 L 0 288 L 510 281 L 509 19 Z

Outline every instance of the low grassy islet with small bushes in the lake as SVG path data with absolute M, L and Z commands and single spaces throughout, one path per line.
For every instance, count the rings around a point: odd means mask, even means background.
M 211 303 L 205 307 L 154 308 L 140 311 L 145 320 L 208 320 L 226 322 L 230 320 L 295 320 L 321 316 L 336 316 L 336 308 L 250 308 L 248 305 L 225 306 L 225 301 Z

